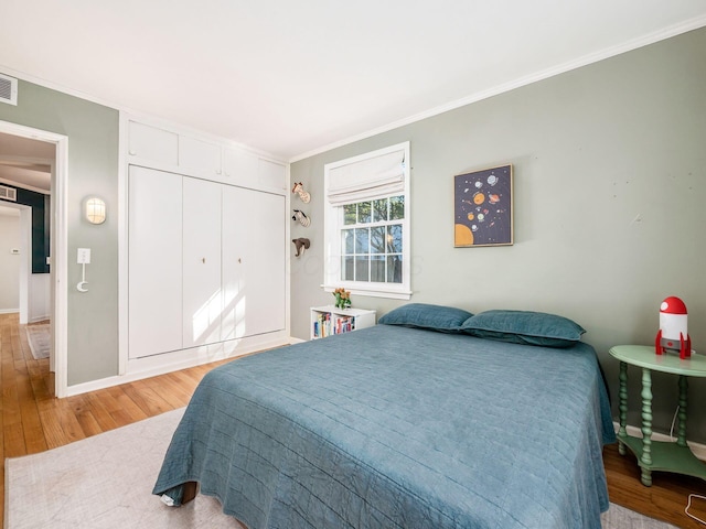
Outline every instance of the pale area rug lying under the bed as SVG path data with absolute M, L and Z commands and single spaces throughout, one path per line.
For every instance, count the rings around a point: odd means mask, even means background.
M 6 461 L 6 529 L 243 529 L 217 499 L 179 508 L 151 494 L 183 408 L 40 454 Z M 612 505 L 603 529 L 670 529 Z

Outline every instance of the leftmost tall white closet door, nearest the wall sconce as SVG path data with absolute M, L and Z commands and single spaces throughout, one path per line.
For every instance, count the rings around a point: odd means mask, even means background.
M 182 348 L 182 177 L 130 166 L 129 358 Z

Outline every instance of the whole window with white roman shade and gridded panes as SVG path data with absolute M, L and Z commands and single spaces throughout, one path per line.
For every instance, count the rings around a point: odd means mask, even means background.
M 409 143 L 324 168 L 324 288 L 409 299 Z

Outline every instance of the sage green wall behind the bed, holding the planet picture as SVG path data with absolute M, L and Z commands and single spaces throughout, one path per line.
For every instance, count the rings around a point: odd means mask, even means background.
M 311 239 L 292 257 L 292 334 L 308 338 L 309 306 L 332 301 L 320 287 L 323 165 L 409 140 L 413 302 L 571 317 L 588 330 L 613 401 L 608 349 L 653 343 L 664 298 L 685 301 L 706 353 L 705 87 L 702 29 L 293 163 L 312 224 L 292 225 L 292 238 Z M 453 175 L 505 163 L 514 246 L 453 248 Z M 353 296 L 378 316 L 400 303 Z M 639 425 L 639 374 L 630 375 L 629 422 Z M 688 438 L 706 442 L 706 380 L 691 382 Z M 656 374 L 653 391 L 654 429 L 666 432 L 676 379 Z

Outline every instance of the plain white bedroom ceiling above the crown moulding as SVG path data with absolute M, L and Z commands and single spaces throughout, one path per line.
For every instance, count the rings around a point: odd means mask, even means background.
M 703 25 L 704 0 L 2 0 L 0 72 L 296 160 Z

